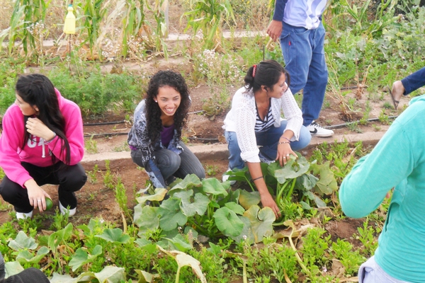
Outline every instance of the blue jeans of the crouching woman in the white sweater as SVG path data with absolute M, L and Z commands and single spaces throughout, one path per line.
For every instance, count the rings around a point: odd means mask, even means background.
M 283 120 L 280 122 L 280 127 L 271 127 L 266 132 L 259 132 L 255 134 L 257 146 L 261 146 L 260 149 L 260 158 L 266 159 L 266 161 L 275 161 L 276 156 L 278 156 L 278 142 L 279 138 L 283 134 L 288 122 Z M 225 138 L 228 144 L 229 149 L 229 168 L 242 169 L 245 166 L 245 162 L 241 158 L 241 149 L 239 149 L 239 144 L 237 143 L 236 132 L 227 132 L 225 131 Z M 312 136 L 310 131 L 302 126 L 300 131 L 300 140 L 291 141 L 290 147 L 294 151 L 304 149 L 305 146 L 310 144 L 310 139 Z

